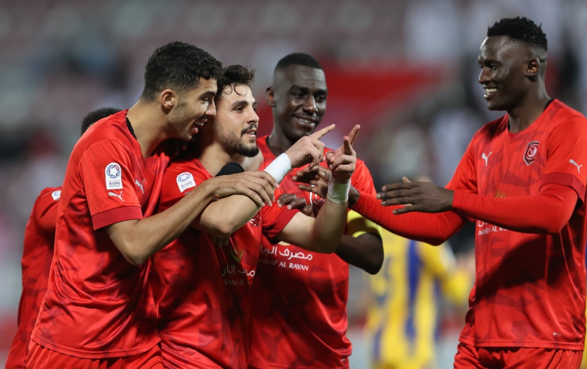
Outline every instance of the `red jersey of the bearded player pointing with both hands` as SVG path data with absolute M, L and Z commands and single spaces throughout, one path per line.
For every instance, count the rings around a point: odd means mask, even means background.
M 164 176 L 161 210 L 210 178 L 197 159 L 172 163 Z M 154 256 L 166 367 L 248 367 L 251 284 L 261 235 L 273 239 L 297 212 L 264 206 L 222 248 L 207 233 L 190 228 Z

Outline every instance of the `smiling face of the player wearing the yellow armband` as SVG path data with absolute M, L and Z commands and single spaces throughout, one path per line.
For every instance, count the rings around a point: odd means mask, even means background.
M 292 143 L 312 134 L 326 113 L 327 96 L 322 69 L 291 65 L 276 70 L 266 92 L 276 131 Z

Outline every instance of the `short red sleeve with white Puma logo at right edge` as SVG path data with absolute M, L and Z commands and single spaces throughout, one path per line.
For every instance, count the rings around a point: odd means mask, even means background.
M 587 124 L 582 117 L 574 116 L 552 129 L 546 143 L 546 165 L 540 185 L 561 184 L 585 199 L 587 183 Z

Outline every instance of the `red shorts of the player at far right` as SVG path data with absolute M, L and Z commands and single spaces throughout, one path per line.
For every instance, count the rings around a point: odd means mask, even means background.
M 579 369 L 583 351 L 458 344 L 454 369 Z

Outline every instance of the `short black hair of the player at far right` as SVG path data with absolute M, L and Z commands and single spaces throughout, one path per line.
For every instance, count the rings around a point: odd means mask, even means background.
M 537 26 L 534 21 L 525 16 L 503 18 L 487 29 L 487 37 L 508 36 L 517 42 L 548 50 L 546 34 L 542 31 L 542 24 Z

